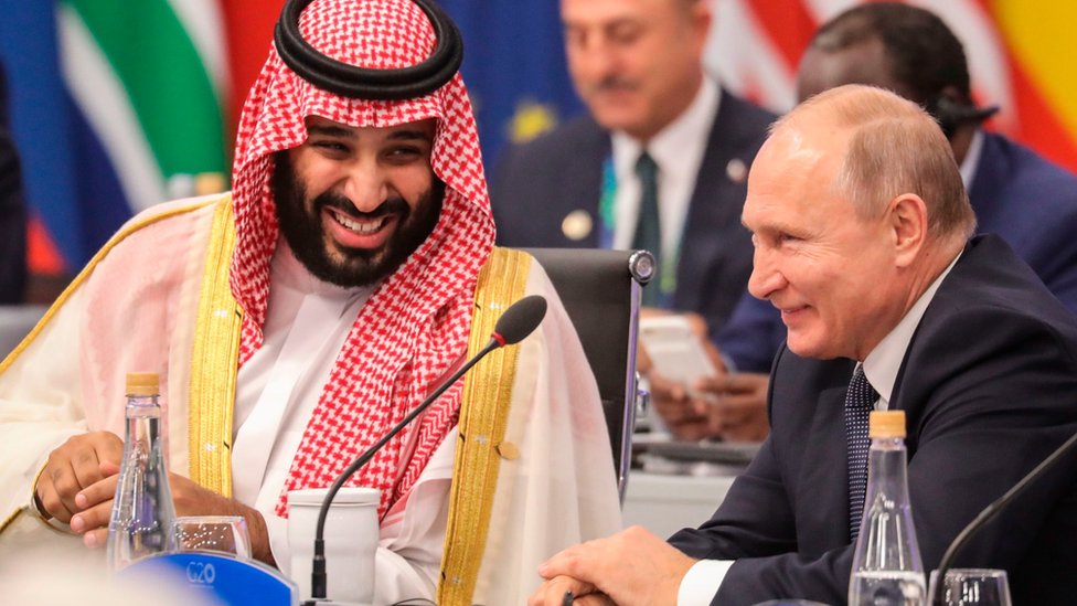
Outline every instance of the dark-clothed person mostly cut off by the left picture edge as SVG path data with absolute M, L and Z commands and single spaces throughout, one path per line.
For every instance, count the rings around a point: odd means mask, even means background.
M 0 65 L 0 304 L 22 302 L 26 289 L 26 203 Z

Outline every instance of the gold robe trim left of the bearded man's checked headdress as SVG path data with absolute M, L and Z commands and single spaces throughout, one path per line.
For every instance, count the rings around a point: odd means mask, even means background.
M 235 238 L 228 198 L 213 215 L 206 246 L 189 406 L 191 479 L 225 497 L 232 496 L 232 411 L 243 327 L 243 309 L 228 285 Z

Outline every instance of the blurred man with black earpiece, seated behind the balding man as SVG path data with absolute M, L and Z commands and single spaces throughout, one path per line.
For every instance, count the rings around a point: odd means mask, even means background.
M 993 111 L 973 104 L 961 42 L 942 20 L 917 7 L 881 2 L 824 23 L 801 60 L 797 96 L 803 100 L 853 83 L 889 88 L 939 120 L 961 167 L 978 231 L 1002 236 L 1077 312 L 1077 177 L 980 128 Z M 774 306 L 745 294 L 716 341 L 739 372 L 700 391 L 735 401 L 742 414 L 734 421 L 765 426 L 766 373 L 785 338 Z M 652 383 L 654 408 L 674 433 L 686 439 L 727 433 L 727 411 L 662 387 Z

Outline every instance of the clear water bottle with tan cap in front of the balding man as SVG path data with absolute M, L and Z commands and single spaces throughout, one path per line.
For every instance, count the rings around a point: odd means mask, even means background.
M 849 604 L 924 606 L 924 564 L 908 499 L 905 412 L 872 412 L 868 436 L 867 491 L 849 581 Z

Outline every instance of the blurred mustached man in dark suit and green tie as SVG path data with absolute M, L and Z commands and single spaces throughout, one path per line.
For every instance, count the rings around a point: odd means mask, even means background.
M 751 269 L 740 208 L 748 166 L 774 116 L 705 74 L 707 2 L 561 7 L 569 72 L 589 115 L 499 159 L 491 188 L 498 241 L 649 248 L 659 273 L 644 302 L 697 312 L 713 336 Z M 641 212 L 642 152 L 657 163 L 657 215 Z M 640 216 L 654 216 L 644 223 L 658 242 L 641 240 Z

